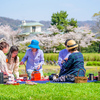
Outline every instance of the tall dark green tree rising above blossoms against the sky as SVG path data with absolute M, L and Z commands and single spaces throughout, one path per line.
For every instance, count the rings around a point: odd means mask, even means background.
M 77 21 L 74 20 L 74 18 L 71 18 L 71 20 L 68 20 L 67 17 L 68 17 L 68 14 L 66 11 L 60 11 L 57 13 L 53 13 L 51 16 L 52 18 L 51 25 L 56 25 L 60 31 L 66 31 L 66 27 L 68 25 L 77 27 Z

